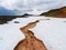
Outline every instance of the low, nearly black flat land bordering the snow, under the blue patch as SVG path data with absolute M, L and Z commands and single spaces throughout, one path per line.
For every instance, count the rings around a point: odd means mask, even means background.
M 0 16 L 0 24 L 8 23 L 8 21 L 11 21 L 15 18 L 26 18 L 22 16 Z

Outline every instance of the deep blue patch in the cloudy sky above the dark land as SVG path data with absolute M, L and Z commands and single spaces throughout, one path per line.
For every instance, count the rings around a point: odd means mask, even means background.
M 0 16 L 15 16 L 15 11 L 0 7 Z

